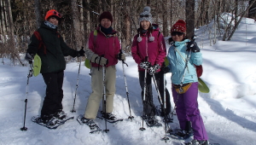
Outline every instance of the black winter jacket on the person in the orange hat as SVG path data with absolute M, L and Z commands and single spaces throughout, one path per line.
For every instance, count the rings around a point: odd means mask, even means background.
M 38 28 L 38 32 L 46 48 L 46 54 L 44 46 L 38 49 L 40 41 L 34 34 L 26 51 L 33 55 L 37 53 L 40 56 L 42 61 L 41 73 L 57 73 L 65 70 L 66 61 L 64 56 L 71 55 L 75 57 L 79 54 L 78 51 L 69 48 L 57 30 L 46 26 L 44 22 Z

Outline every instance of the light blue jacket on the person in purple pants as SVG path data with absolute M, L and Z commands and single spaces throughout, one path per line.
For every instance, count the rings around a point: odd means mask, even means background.
M 182 42 L 173 42 L 173 45 L 169 48 L 167 59 L 169 61 L 168 67 L 172 73 L 172 84 L 183 84 L 198 82 L 195 66 L 202 64 L 201 52 L 193 53 L 189 55 L 187 49 L 187 43 L 189 39 L 185 39 Z M 188 68 L 185 68 L 186 60 L 189 57 Z M 185 76 L 183 74 L 185 72 Z

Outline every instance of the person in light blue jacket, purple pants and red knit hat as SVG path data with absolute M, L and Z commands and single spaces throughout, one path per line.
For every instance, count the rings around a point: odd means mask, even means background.
M 200 49 L 194 40 L 186 38 L 186 23 L 177 20 L 171 29 L 167 59 L 172 73 L 172 96 L 176 105 L 177 119 L 181 130 L 172 131 L 178 138 L 194 140 L 189 145 L 208 145 L 207 131 L 198 108 L 198 78 L 195 66 L 202 63 Z M 192 126 L 191 126 L 192 125 Z

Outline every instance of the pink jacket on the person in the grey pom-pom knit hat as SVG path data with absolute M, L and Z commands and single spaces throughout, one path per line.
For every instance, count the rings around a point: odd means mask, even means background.
M 162 66 L 162 63 L 166 58 L 166 43 L 163 35 L 160 32 L 160 29 L 157 25 L 153 25 L 154 29 L 152 36 L 154 41 L 149 41 L 151 37 L 149 32 L 141 35 L 143 40 L 141 42 L 137 41 L 138 34 L 133 39 L 133 44 L 131 46 L 131 55 L 138 64 L 138 71 L 144 71 L 139 65 L 141 62 L 145 61 L 145 56 L 148 56 L 148 61 L 151 65 L 159 64 Z M 160 69 L 157 71 L 159 72 Z

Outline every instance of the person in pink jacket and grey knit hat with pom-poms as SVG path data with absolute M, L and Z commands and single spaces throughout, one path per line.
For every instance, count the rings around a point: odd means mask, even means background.
M 137 30 L 138 34 L 134 37 L 131 46 L 131 54 L 134 61 L 137 63 L 139 82 L 142 88 L 143 119 L 147 121 L 148 125 L 156 125 L 158 124 L 158 120 L 155 119 L 151 78 L 154 75 L 163 102 L 164 90 L 166 90 L 164 83 L 166 83 L 166 80 L 164 80 L 164 71 L 161 71 L 160 68 L 164 67 L 163 62 L 166 58 L 166 44 L 163 35 L 160 33 L 160 28 L 158 25 L 152 23 L 152 14 L 150 14 L 150 8 L 148 6 L 145 7 L 143 13 L 140 14 L 139 25 L 140 27 Z M 143 92 L 145 71 L 147 71 L 146 92 Z M 166 110 L 161 107 L 162 115 L 171 112 L 168 90 L 166 90 L 166 106 Z

